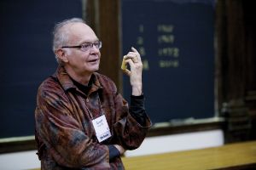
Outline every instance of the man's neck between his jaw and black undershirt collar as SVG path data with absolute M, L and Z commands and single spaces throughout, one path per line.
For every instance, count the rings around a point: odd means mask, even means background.
M 73 80 L 83 85 L 86 85 L 86 86 L 88 85 L 92 73 L 88 73 L 88 72 L 79 73 L 67 66 L 64 66 L 64 68 L 67 71 L 67 74 L 73 78 Z

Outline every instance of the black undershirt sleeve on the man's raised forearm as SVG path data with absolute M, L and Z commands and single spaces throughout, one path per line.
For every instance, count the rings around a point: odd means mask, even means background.
M 147 121 L 144 100 L 144 95 L 131 95 L 131 105 L 129 108 L 131 116 L 142 126 L 146 126 Z

